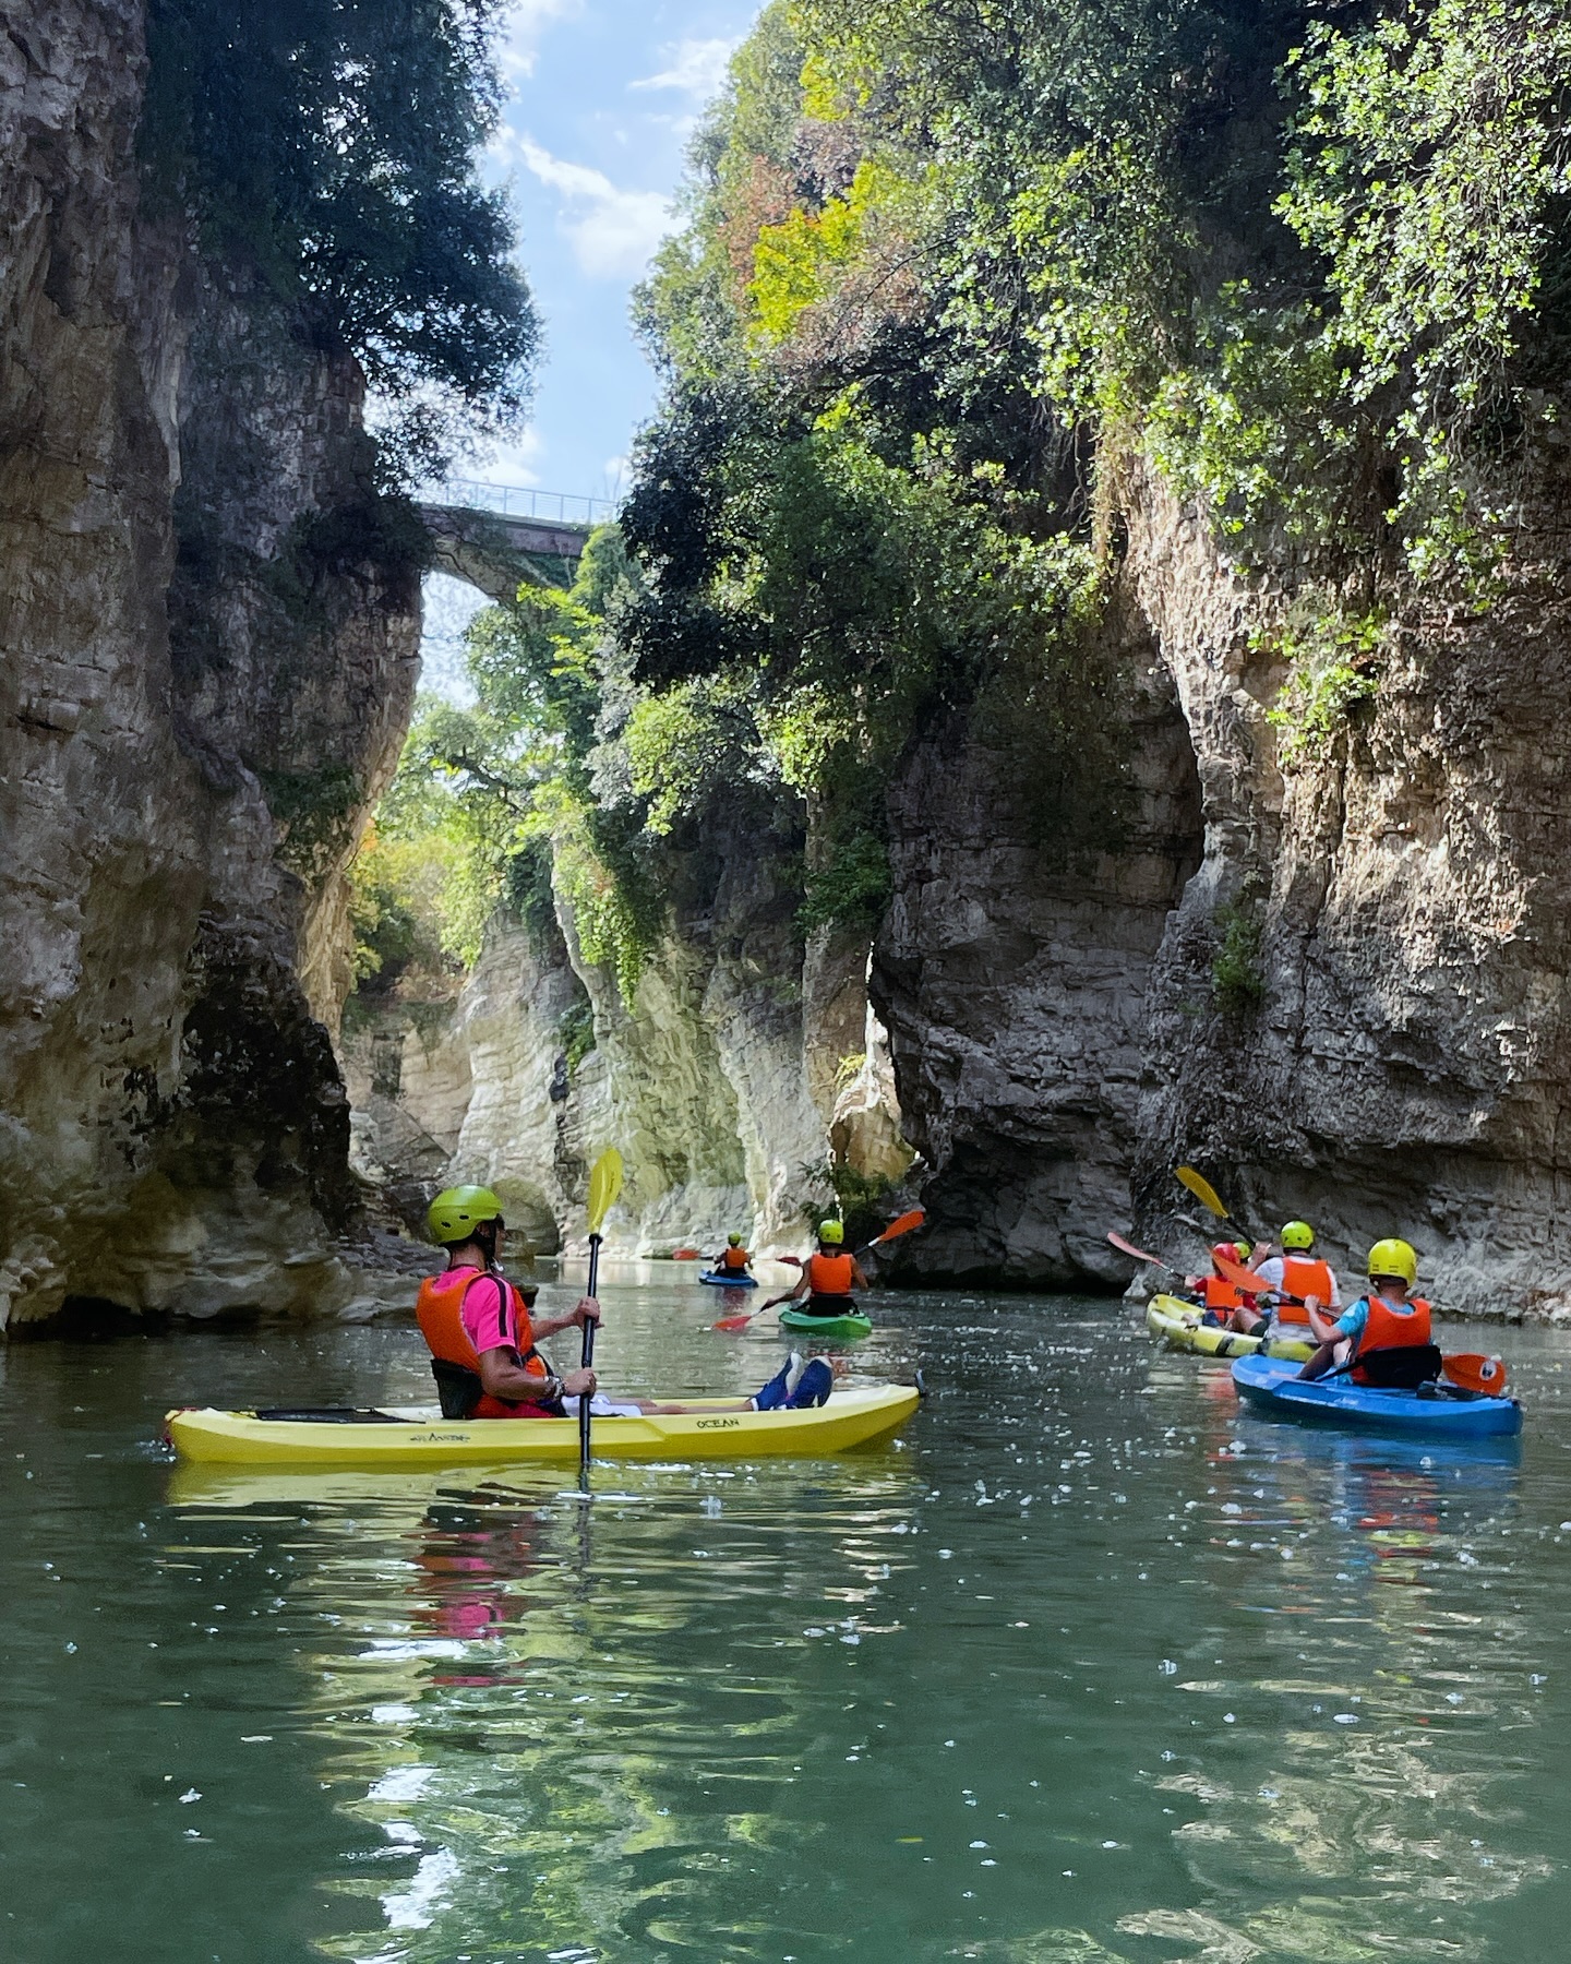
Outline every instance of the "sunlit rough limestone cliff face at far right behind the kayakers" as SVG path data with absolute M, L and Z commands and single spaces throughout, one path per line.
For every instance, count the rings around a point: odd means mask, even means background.
M 1528 560 L 1555 544 L 1553 509 L 1540 517 Z M 1408 615 L 1379 695 L 1318 754 L 1284 760 L 1263 713 L 1282 672 L 1247 632 L 1269 625 L 1271 595 L 1151 485 L 1131 577 L 1206 788 L 1206 858 L 1153 976 L 1147 1220 L 1188 1155 L 1247 1220 L 1306 1214 L 1355 1277 L 1371 1241 L 1400 1233 L 1449 1308 L 1565 1310 L 1563 581 L 1524 573 L 1483 619 Z M 1259 923 L 1259 1004 L 1196 1017 L 1219 903 Z

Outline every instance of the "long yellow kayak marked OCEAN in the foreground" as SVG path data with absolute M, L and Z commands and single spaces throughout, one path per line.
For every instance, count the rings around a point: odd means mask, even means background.
M 782 1459 L 842 1453 L 890 1438 L 915 1412 L 909 1385 L 837 1391 L 801 1412 L 738 1412 L 734 1400 L 693 1398 L 670 1418 L 597 1418 L 597 1459 Z M 732 1410 L 725 1406 L 731 1404 Z M 575 1418 L 442 1418 L 436 1406 L 263 1418 L 185 1408 L 167 1414 L 169 1444 L 206 1465 L 577 1465 Z

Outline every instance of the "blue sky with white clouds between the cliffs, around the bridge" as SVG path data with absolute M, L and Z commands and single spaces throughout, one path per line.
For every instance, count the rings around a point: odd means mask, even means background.
M 520 442 L 463 475 L 579 497 L 626 489 L 654 375 L 628 300 L 660 240 L 687 139 L 725 81 L 758 0 L 516 0 L 499 41 L 513 98 L 485 163 L 518 220 L 544 322 L 534 414 Z M 461 632 L 473 587 L 426 581 L 424 687 L 469 697 Z

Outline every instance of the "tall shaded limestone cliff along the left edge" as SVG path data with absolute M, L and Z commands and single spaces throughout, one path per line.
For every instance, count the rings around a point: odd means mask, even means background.
M 141 8 L 0 14 L 0 1326 L 332 1306 L 412 562 L 353 365 L 139 208 Z

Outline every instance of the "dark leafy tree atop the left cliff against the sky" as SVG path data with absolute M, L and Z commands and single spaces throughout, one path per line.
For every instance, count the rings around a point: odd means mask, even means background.
M 151 198 L 340 342 L 395 414 L 389 479 L 524 409 L 538 326 L 501 192 L 501 0 L 149 0 Z

